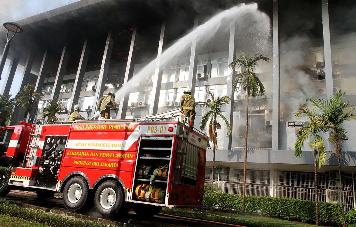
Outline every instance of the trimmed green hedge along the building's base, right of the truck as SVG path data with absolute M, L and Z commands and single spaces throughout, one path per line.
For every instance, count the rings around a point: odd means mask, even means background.
M 220 209 L 240 212 L 242 209 L 242 195 L 223 193 L 211 185 L 205 185 L 203 204 L 207 209 Z M 275 198 L 267 196 L 246 196 L 245 214 L 260 214 L 278 217 L 285 220 L 315 222 L 315 201 Z M 346 213 L 347 226 L 356 227 L 356 211 Z M 319 221 L 321 223 L 341 224 L 341 204 L 319 201 Z

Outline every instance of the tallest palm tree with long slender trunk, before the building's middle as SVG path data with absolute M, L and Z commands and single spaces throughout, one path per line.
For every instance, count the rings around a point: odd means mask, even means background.
M 269 63 L 271 59 L 262 54 L 249 57 L 244 52 L 240 53 L 239 58 L 232 61 L 229 67 L 235 70 L 235 67 L 243 67 L 243 72 L 237 76 L 233 89 L 237 91 L 237 84 L 242 83 L 244 91 L 246 92 L 246 129 L 245 129 L 245 160 L 244 160 L 244 189 L 242 193 L 242 214 L 245 215 L 245 195 L 246 195 L 246 160 L 247 160 L 247 126 L 248 126 L 248 97 L 263 96 L 265 94 L 265 87 L 263 86 L 258 75 L 253 72 L 258 66 L 258 61 L 263 60 Z

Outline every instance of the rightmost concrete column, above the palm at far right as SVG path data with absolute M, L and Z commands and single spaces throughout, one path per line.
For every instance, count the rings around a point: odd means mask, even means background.
M 325 64 L 325 83 L 326 99 L 333 95 L 333 66 L 331 64 L 331 42 L 329 25 L 329 6 L 328 0 L 321 0 L 321 14 L 323 17 L 323 39 L 324 39 L 324 64 Z

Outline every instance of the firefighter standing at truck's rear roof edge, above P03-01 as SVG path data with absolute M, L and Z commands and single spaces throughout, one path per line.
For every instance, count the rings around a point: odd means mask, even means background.
M 189 88 L 185 88 L 183 92 L 184 94 L 180 97 L 180 112 L 182 112 L 185 117 L 189 117 L 189 127 L 193 128 L 195 119 L 195 99 Z M 184 117 L 182 116 L 182 122 L 183 118 Z

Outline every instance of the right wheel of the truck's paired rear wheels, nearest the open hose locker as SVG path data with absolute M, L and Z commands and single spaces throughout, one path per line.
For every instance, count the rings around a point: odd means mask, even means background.
M 115 180 L 105 181 L 95 191 L 94 203 L 96 210 L 104 217 L 113 216 L 119 211 L 121 213 L 121 210 L 124 212 L 126 206 L 125 204 L 123 205 L 123 195 L 119 182 Z

